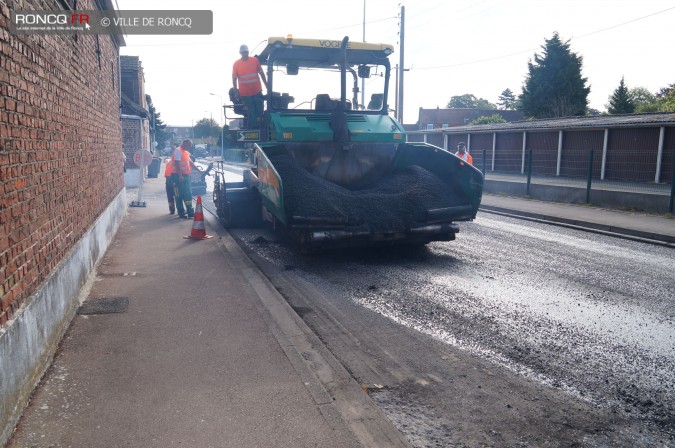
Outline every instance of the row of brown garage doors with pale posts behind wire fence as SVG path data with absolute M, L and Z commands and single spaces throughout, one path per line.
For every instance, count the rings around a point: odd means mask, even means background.
M 675 127 L 409 133 L 451 152 L 465 142 L 487 179 L 674 194 Z M 670 207 L 672 212 L 672 206 Z

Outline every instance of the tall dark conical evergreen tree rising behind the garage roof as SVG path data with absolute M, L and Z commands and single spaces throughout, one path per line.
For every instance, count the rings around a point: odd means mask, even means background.
M 558 33 L 545 40 L 543 54 L 528 62 L 528 74 L 520 95 L 527 117 L 551 118 L 585 115 L 590 87 L 581 76 L 583 58 L 570 50 Z

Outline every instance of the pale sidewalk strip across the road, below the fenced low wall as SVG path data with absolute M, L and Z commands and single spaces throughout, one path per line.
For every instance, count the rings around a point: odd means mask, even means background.
M 481 211 L 541 220 L 621 238 L 675 247 L 675 219 L 577 204 L 483 194 Z

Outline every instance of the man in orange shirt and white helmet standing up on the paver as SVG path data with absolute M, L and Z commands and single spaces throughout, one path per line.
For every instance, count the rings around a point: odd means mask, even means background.
M 253 56 L 249 57 L 248 47 L 239 47 L 241 59 L 237 59 L 232 66 L 232 86 L 235 98 L 240 98 L 248 109 L 248 127 L 259 128 L 263 114 L 263 94 L 260 80 L 267 87 L 267 78 L 260 61 Z

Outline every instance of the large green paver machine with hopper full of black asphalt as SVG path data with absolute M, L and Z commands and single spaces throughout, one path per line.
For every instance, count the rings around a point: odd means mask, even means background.
M 252 145 L 253 167 L 243 182 L 226 182 L 222 170 L 215 179 L 225 227 L 266 221 L 313 250 L 449 241 L 457 221 L 475 218 L 482 173 L 442 148 L 406 143 L 389 116 L 392 52 L 347 37 L 268 39 L 257 56 L 268 80 L 262 124 L 234 131 Z M 375 92 L 367 105 L 360 81 Z

